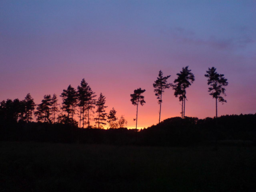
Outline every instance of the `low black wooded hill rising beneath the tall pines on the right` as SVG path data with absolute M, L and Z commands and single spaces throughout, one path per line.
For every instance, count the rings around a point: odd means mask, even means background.
M 256 114 L 218 118 L 173 117 L 142 130 L 147 145 L 194 145 L 215 140 L 256 142 Z

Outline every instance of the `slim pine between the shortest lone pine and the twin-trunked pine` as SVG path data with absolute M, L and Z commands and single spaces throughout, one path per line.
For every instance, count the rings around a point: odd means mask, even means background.
M 153 87 L 155 95 L 157 96 L 156 98 L 158 99 L 158 104 L 160 104 L 160 111 L 159 111 L 159 123 L 160 123 L 160 118 L 161 118 L 161 104 L 163 102 L 162 100 L 162 95 L 164 93 L 165 89 L 168 89 L 171 87 L 171 83 L 167 83 L 167 79 L 171 77 L 171 75 L 168 75 L 166 77 L 163 77 L 163 72 L 160 70 L 157 80 L 155 83 L 153 83 Z

